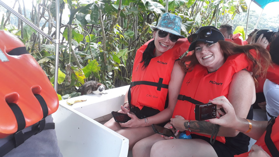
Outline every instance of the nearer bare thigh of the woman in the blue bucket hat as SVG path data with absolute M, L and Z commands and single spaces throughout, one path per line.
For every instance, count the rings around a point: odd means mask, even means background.
M 135 143 L 138 142 L 139 140 L 151 136 L 155 133 L 151 126 L 138 127 L 138 128 L 125 128 L 125 129 L 117 130 L 116 132 L 129 139 L 129 150 L 131 150 L 135 145 Z

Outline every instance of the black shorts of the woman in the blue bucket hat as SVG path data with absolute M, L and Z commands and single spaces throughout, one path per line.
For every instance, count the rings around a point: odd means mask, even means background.
M 147 117 L 150 117 L 150 116 L 154 116 L 156 115 L 157 113 L 159 113 L 160 111 L 157 110 L 157 109 L 154 109 L 152 107 L 147 107 L 147 106 L 144 106 L 141 110 L 139 109 L 139 107 L 131 107 L 131 110 L 130 112 L 133 112 L 135 113 L 135 115 L 139 118 L 139 119 L 144 119 L 144 118 L 147 118 Z M 161 123 L 161 124 L 158 124 L 160 126 L 165 126 L 168 122 L 164 122 L 164 123 Z

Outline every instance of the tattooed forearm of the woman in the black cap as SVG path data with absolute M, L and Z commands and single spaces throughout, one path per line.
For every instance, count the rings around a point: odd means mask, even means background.
M 188 122 L 185 122 L 184 126 L 185 128 L 188 128 Z M 189 126 L 190 126 L 190 130 L 193 132 L 203 133 L 208 135 L 211 135 L 214 129 L 214 124 L 207 123 L 205 121 L 190 121 Z

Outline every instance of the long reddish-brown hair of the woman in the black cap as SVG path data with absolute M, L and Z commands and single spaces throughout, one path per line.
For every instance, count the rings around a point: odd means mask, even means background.
M 271 65 L 271 58 L 269 55 L 268 50 L 264 49 L 262 46 L 259 46 L 258 44 L 250 44 L 250 45 L 244 45 L 240 46 L 230 41 L 218 41 L 220 48 L 223 50 L 225 59 L 228 58 L 228 56 L 239 54 L 239 53 L 245 53 L 248 59 L 253 63 L 253 79 L 257 85 L 257 80 L 255 79 L 256 76 L 265 76 L 268 67 Z M 254 49 L 256 51 L 256 58 L 254 58 L 250 51 L 251 49 Z M 259 57 L 258 57 L 259 56 Z M 184 56 L 182 59 L 179 60 L 179 65 L 182 67 L 182 69 L 187 71 L 192 71 L 194 66 L 198 64 L 198 60 L 196 57 L 195 50 L 193 51 L 192 55 Z

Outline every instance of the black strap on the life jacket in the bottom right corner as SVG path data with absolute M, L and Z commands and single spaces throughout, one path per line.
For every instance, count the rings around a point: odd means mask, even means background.
M 266 146 L 268 147 L 268 150 L 270 151 L 272 156 L 279 156 L 279 151 L 276 148 L 275 144 L 273 143 L 273 141 L 270 137 L 271 131 L 272 131 L 272 125 L 275 123 L 275 119 L 276 119 L 276 117 L 272 117 L 268 121 L 268 126 L 266 127 L 266 133 L 264 136 L 264 142 L 265 142 Z

